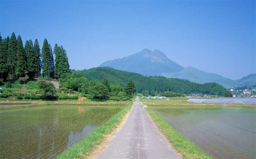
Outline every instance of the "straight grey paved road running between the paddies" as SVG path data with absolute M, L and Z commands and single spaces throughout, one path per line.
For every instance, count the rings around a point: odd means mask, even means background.
M 98 154 L 99 159 L 169 159 L 181 158 L 144 110 L 137 97 L 123 127 Z

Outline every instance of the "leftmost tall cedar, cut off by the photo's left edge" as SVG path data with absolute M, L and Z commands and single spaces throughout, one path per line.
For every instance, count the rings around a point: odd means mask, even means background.
M 0 34 L 0 79 L 7 79 L 7 48 L 5 40 L 2 39 Z M 3 82 L 3 81 L 1 81 Z

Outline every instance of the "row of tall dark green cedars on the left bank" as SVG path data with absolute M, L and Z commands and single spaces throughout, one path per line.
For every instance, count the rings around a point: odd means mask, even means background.
M 54 57 L 55 55 L 55 65 Z M 13 32 L 11 37 L 2 39 L 0 35 L 0 79 L 25 77 L 25 72 L 30 78 L 38 77 L 41 71 L 45 77 L 58 79 L 62 73 L 69 72 L 68 57 L 62 46 L 55 44 L 52 51 L 47 39 L 44 39 L 42 51 L 38 40 L 26 40 L 25 47 L 21 36 L 16 39 Z

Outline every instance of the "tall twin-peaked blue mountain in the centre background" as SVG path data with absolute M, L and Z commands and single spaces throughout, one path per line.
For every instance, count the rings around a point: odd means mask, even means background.
M 179 72 L 184 69 L 157 49 L 154 51 L 143 49 L 130 56 L 106 61 L 99 65 L 99 67 L 107 66 L 122 71 L 140 73 L 144 76 L 160 76 L 162 72 Z

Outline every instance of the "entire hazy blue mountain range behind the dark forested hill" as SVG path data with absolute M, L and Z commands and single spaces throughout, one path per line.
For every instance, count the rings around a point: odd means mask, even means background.
M 178 78 L 196 83 L 221 84 L 225 88 L 252 86 L 256 84 L 256 73 L 242 77 L 240 80 L 231 80 L 215 73 L 208 73 L 194 67 L 182 67 L 170 60 L 163 52 L 155 49 L 143 49 L 121 59 L 106 61 L 100 67 L 112 67 L 122 71 L 136 72 L 144 76 L 164 76 Z

